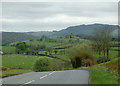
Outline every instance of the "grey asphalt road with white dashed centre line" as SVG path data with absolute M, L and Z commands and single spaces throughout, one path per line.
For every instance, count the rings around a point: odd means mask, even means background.
M 31 72 L 2 79 L 2 84 L 88 84 L 85 70 Z

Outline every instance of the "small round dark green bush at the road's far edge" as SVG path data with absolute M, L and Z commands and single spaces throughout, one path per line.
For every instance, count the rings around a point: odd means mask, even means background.
M 49 71 L 50 61 L 47 58 L 39 58 L 33 65 L 33 70 L 35 72 Z

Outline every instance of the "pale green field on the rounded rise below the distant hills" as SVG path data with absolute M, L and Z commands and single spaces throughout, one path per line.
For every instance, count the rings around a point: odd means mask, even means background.
M 47 39 L 47 40 L 42 40 L 40 41 L 39 39 L 38 40 L 26 40 L 26 41 L 22 41 L 22 42 L 26 42 L 27 45 L 41 45 L 41 44 L 45 44 L 47 47 L 55 47 L 55 46 L 60 46 L 60 45 L 63 45 L 63 44 L 68 44 L 70 43 L 70 41 L 72 42 L 78 42 L 78 43 L 88 43 L 90 42 L 89 40 L 85 40 L 85 39 L 80 39 L 78 37 L 74 37 L 74 38 L 65 38 L 65 37 L 58 37 L 58 38 L 53 38 L 53 39 Z M 14 42 L 14 43 L 10 43 L 10 45 L 14 45 L 18 42 Z

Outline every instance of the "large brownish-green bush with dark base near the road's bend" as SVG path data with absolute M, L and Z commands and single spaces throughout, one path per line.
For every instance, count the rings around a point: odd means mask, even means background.
M 81 66 L 88 67 L 96 63 L 90 47 L 87 45 L 75 46 L 71 48 L 69 50 L 69 55 L 73 68 L 78 68 Z

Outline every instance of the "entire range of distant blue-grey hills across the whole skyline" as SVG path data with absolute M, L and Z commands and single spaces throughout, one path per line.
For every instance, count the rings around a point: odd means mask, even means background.
M 37 39 L 45 35 L 48 37 L 61 37 L 66 35 L 83 35 L 83 36 L 93 36 L 96 32 L 109 28 L 112 32 L 114 38 L 118 38 L 118 25 L 108 25 L 108 24 L 90 24 L 90 25 L 78 25 L 70 26 L 66 29 L 60 31 L 38 31 L 38 32 L 2 32 L 2 43 L 11 43 L 16 41 Z M 0 32 L 1 35 L 1 32 Z

